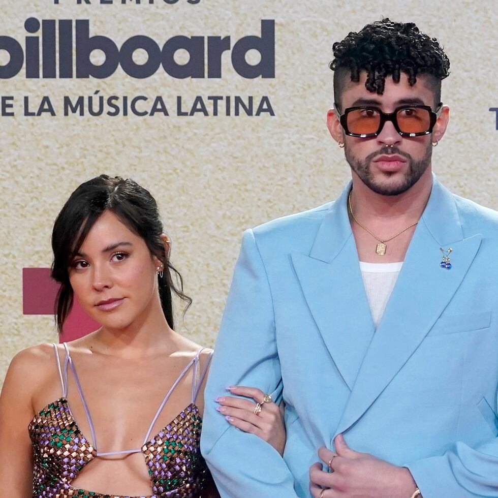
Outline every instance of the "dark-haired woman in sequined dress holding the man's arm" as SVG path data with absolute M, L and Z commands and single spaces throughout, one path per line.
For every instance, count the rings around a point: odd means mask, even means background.
M 89 180 L 57 216 L 52 248 L 59 331 L 74 298 L 101 327 L 12 360 L 0 396 L 2 493 L 216 496 L 199 452 L 212 351 L 174 332 L 172 293 L 191 300 L 155 200 L 129 179 Z M 274 403 L 256 417 L 252 401 L 220 402 L 230 423 L 283 452 Z

